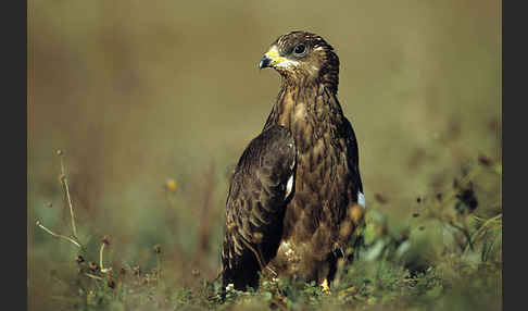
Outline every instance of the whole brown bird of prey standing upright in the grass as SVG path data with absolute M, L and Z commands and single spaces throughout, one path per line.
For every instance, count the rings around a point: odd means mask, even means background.
M 320 36 L 291 32 L 259 63 L 280 74 L 262 133 L 231 177 L 222 245 L 223 288 L 259 287 L 259 272 L 328 289 L 365 198 L 354 130 L 337 98 L 339 59 Z

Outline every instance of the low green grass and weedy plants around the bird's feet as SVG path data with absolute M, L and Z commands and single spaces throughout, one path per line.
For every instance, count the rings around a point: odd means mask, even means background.
M 67 268 L 62 264 L 66 270 L 53 270 L 52 282 L 62 286 L 51 286 L 58 289 L 50 299 L 75 310 L 502 309 L 502 208 L 482 204 L 474 190 L 482 175 L 500 177 L 502 165 L 480 157 L 468 167 L 444 192 L 416 198 L 416 211 L 405 223 L 391 224 L 387 215 L 369 209 L 356 259 L 341 265 L 330 294 L 314 283 L 263 278 L 259 290 L 231 288 L 225 299 L 219 281 L 198 270 L 188 272 L 188 284 L 175 284 L 171 269 L 165 271 L 161 245 L 153 245 L 150 258 L 134 266 L 116 263 L 109 236 L 85 246 L 74 234 L 83 224 L 75 222 L 67 176 L 61 173 L 64 198 L 72 207 L 71 234 L 54 233 L 40 221 L 36 225 L 48 238 L 77 249 L 78 256 Z M 168 184 L 167 194 L 174 190 Z M 481 216 L 486 214 L 493 216 Z

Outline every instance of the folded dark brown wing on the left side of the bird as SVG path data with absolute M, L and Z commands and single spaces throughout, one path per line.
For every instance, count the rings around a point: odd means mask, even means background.
M 261 264 L 275 257 L 294 164 L 296 144 L 282 126 L 263 130 L 240 157 L 226 202 L 224 287 L 228 284 L 236 289 L 256 287 Z

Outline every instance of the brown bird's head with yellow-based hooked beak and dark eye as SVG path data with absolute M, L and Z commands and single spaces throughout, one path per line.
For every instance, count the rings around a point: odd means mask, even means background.
M 337 91 L 339 58 L 325 39 L 306 32 L 278 37 L 262 57 L 259 69 L 272 67 L 287 82 L 320 83 Z

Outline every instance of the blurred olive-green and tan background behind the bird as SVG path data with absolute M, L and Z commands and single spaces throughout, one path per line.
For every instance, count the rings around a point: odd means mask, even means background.
M 407 216 L 466 161 L 501 157 L 501 14 L 493 0 L 29 1 L 32 303 L 76 266 L 73 245 L 35 226 L 71 233 L 58 149 L 95 253 L 110 235 L 109 260 L 149 266 L 160 244 L 175 284 L 216 275 L 228 176 L 279 87 L 257 62 L 294 29 L 340 58 L 369 208 Z

